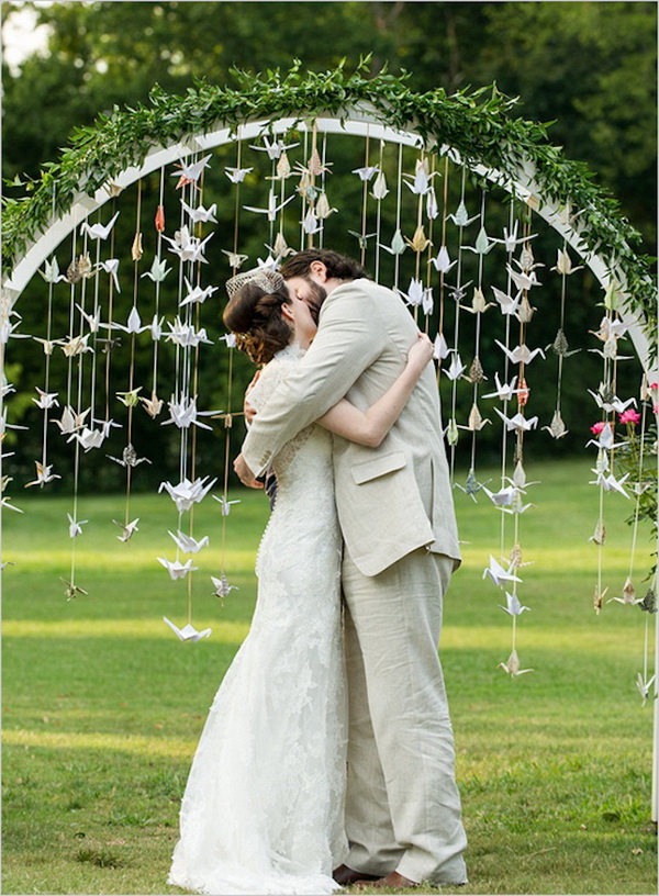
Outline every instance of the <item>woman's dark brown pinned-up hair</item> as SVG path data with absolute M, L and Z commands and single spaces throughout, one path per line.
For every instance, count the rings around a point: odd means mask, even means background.
M 286 287 L 272 292 L 246 283 L 230 299 L 222 320 L 236 337 L 236 345 L 254 363 L 268 363 L 291 340 L 292 327 L 281 314 L 290 304 Z

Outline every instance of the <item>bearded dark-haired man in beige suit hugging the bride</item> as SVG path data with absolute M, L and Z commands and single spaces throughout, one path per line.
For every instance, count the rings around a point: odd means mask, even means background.
M 319 310 L 319 331 L 234 462 L 254 488 L 279 449 L 344 395 L 361 410 L 372 405 L 417 334 L 400 298 L 336 253 L 300 251 L 281 273 Z M 383 889 L 461 884 L 467 839 L 437 656 L 443 596 L 460 555 L 432 366 L 379 448 L 334 436 L 333 457 L 348 607 L 350 842 L 334 877 Z

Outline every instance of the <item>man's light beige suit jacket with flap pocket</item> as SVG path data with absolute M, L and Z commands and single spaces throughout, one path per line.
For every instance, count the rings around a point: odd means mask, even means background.
M 342 397 L 366 411 L 403 369 L 417 327 L 402 300 L 370 280 L 334 289 L 298 369 L 259 413 L 243 456 L 260 475 L 297 433 Z M 460 560 L 453 494 L 431 365 L 378 448 L 334 436 L 338 518 L 347 550 L 377 575 L 421 547 Z M 294 536 L 294 533 L 292 534 Z

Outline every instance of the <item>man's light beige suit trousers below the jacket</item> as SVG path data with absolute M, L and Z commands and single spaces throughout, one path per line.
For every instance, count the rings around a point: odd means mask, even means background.
M 375 576 L 346 556 L 347 864 L 467 880 L 454 736 L 437 653 L 451 559 L 425 548 Z

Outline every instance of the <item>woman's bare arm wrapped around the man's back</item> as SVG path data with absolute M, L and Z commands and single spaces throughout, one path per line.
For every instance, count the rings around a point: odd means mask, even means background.
M 420 333 L 410 349 L 404 370 L 368 411 L 359 411 L 347 399 L 342 399 L 316 423 L 358 445 L 377 448 L 398 419 L 432 357 L 433 344 Z

